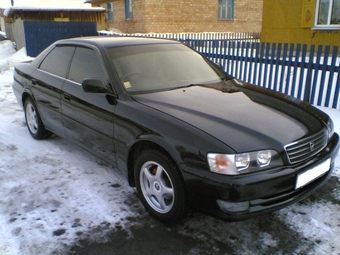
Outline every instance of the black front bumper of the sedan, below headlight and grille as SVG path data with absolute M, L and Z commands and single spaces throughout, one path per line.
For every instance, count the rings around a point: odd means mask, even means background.
M 243 220 L 278 210 L 325 184 L 339 147 L 339 135 L 335 133 L 327 147 L 308 162 L 247 175 L 223 176 L 182 167 L 188 199 L 196 210 L 225 220 Z M 296 187 L 299 175 L 325 164 L 329 169 L 323 174 Z

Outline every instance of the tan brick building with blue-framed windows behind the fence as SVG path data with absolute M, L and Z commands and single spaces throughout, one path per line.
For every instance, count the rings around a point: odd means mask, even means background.
M 263 0 L 87 0 L 124 33 L 260 32 Z

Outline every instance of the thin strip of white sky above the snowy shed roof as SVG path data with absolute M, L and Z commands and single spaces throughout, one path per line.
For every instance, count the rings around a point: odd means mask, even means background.
M 85 0 L 13 0 L 14 6 L 89 6 L 88 4 L 84 4 Z M 9 7 L 11 6 L 11 0 L 0 0 L 0 7 Z

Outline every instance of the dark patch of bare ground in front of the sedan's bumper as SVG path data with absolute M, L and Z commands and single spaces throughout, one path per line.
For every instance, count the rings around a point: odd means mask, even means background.
M 192 213 L 175 226 L 148 215 L 130 220 L 138 224 L 113 229 L 105 243 L 83 239 L 69 254 L 308 254 L 315 245 L 277 213 L 242 222 Z

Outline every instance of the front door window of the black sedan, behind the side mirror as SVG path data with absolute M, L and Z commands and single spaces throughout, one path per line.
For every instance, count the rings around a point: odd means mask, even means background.
M 94 50 L 78 47 L 74 53 L 68 79 L 82 83 L 85 78 L 106 81 L 107 75 Z

